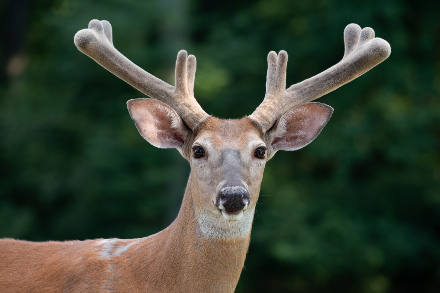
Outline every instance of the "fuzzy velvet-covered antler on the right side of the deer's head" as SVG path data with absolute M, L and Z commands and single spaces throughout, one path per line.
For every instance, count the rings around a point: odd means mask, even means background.
M 263 131 L 272 127 L 289 109 L 312 101 L 354 80 L 391 54 L 389 43 L 374 38 L 374 30 L 361 30 L 357 24 L 349 24 L 344 30 L 345 54 L 339 63 L 286 90 L 287 53 L 274 51 L 268 54 L 266 95 L 263 102 L 249 115 Z

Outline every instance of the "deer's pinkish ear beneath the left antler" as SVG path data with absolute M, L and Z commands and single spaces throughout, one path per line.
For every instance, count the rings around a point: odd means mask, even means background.
M 188 128 L 171 107 L 147 98 L 129 100 L 127 107 L 139 134 L 151 145 L 182 148 Z

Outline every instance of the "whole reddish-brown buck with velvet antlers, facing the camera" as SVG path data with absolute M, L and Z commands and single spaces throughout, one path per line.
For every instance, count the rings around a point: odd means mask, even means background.
M 175 87 L 113 46 L 109 22 L 92 20 L 78 49 L 150 98 L 127 102 L 139 133 L 177 148 L 191 165 L 175 221 L 139 239 L 0 241 L 0 292 L 233 292 L 243 268 L 265 163 L 308 145 L 333 108 L 310 102 L 388 58 L 373 29 L 347 25 L 342 60 L 286 89 L 287 53 L 268 54 L 266 94 L 241 119 L 208 115 L 194 98 L 196 59 L 177 55 Z

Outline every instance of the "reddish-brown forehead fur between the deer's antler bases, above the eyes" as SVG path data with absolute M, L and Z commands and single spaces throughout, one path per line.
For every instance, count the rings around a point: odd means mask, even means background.
M 262 136 L 257 124 L 247 117 L 241 119 L 220 119 L 211 116 L 200 125 L 196 136 L 198 137 L 208 133 L 215 133 L 219 138 L 224 140 L 238 138 L 243 135 L 248 136 L 249 134 L 254 134 L 259 137 Z

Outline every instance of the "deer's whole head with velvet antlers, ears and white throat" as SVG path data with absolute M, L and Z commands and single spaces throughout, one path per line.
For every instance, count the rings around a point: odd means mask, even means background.
M 347 25 L 345 54 L 326 71 L 286 89 L 287 53 L 268 54 L 266 94 L 242 119 L 209 116 L 194 98 L 196 59 L 177 55 L 175 87 L 129 61 L 113 46 L 109 22 L 92 20 L 75 35 L 80 51 L 150 98 L 127 102 L 139 133 L 158 148 L 177 148 L 191 165 L 190 189 L 201 232 L 209 237 L 247 236 L 265 163 L 278 150 L 308 145 L 333 108 L 310 102 L 367 72 L 390 52 L 371 28 Z

